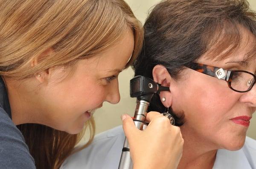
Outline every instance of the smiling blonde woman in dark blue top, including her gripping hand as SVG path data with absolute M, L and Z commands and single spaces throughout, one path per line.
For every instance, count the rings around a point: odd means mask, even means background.
M 143 29 L 123 0 L 0 0 L 0 168 L 58 169 L 84 126 L 91 141 L 91 112 L 119 102 L 118 74 L 142 42 Z M 134 168 L 176 165 L 178 127 L 157 112 L 148 113 L 151 128 L 143 132 L 128 115 L 122 120 Z M 148 146 L 163 159 L 175 153 L 174 162 L 147 161 L 154 155 Z

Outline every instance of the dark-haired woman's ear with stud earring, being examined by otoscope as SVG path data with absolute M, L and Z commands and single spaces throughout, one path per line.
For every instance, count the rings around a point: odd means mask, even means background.
M 153 79 L 162 86 L 169 87 L 170 91 L 162 91 L 159 96 L 165 107 L 172 105 L 172 77 L 163 65 L 156 65 L 152 70 Z M 164 99 L 163 99 L 164 98 Z

